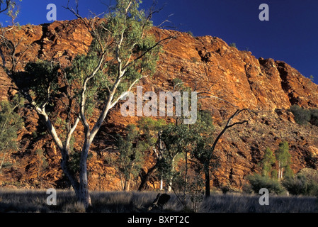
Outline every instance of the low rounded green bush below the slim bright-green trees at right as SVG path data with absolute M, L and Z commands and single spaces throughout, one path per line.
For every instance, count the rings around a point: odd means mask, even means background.
M 259 194 L 259 190 L 262 188 L 268 189 L 270 193 L 281 194 L 284 189 L 281 187 L 280 183 L 276 179 L 271 179 L 268 176 L 261 176 L 258 174 L 249 175 L 247 177 L 249 183 L 251 184 L 251 189 Z

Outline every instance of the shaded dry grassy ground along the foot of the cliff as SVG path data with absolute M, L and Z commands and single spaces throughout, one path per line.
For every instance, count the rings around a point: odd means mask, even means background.
M 157 192 L 91 192 L 94 213 L 147 212 L 147 207 Z M 57 191 L 57 206 L 48 206 L 45 190 L 0 189 L 0 212 L 84 212 L 82 204 L 76 202 L 74 192 Z M 171 199 L 162 212 L 190 212 L 171 194 Z M 315 197 L 307 196 L 270 196 L 269 205 L 259 205 L 258 195 L 249 194 L 212 194 L 197 208 L 200 213 L 312 213 L 318 212 Z

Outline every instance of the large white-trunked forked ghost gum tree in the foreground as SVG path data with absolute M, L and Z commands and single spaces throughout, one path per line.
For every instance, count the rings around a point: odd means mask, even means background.
M 86 25 L 93 37 L 89 51 L 75 57 L 70 67 L 63 68 L 59 62 L 53 61 L 29 62 L 25 66 L 27 74 L 24 74 L 31 79 L 28 86 L 19 84 L 21 72 L 6 70 L 52 135 L 62 155 L 64 175 L 86 208 L 91 206 L 87 157 L 96 133 L 110 109 L 142 77 L 154 74 L 161 45 L 172 38 L 156 40 L 150 34 L 153 12 L 146 15 L 139 9 L 140 3 L 137 0 L 118 0 L 115 7 L 108 9 L 103 20 L 97 17 L 87 20 L 79 15 L 78 5 L 74 10 L 68 1 L 65 8 Z M 4 34 L 2 41 L 5 40 Z M 58 117 L 58 123 L 57 118 L 50 114 L 57 99 L 64 104 L 64 113 Z M 93 121 L 89 118 L 96 114 L 96 110 L 99 110 L 97 120 Z M 84 127 L 84 137 L 79 174 L 76 175 L 69 165 L 73 134 L 79 124 Z

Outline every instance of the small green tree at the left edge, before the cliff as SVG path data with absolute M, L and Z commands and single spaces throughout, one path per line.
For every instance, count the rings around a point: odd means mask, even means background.
M 18 149 L 17 133 L 23 127 L 23 118 L 16 111 L 22 102 L 19 96 L 14 96 L 11 102 L 0 102 L 0 153 L 3 155 L 0 170 L 8 153 Z

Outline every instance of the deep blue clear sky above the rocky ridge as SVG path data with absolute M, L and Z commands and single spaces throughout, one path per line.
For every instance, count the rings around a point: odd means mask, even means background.
M 154 16 L 159 25 L 169 15 L 166 26 L 178 31 L 191 31 L 193 35 L 212 35 L 227 43 L 236 43 L 239 50 L 249 50 L 259 58 L 283 60 L 305 77 L 314 76 L 318 84 L 318 1 L 317 0 L 157 0 L 164 9 Z M 74 0 L 71 0 L 74 2 Z M 79 11 L 89 16 L 89 10 L 102 13 L 109 0 L 79 0 Z M 115 0 L 111 1 L 115 4 Z M 152 0 L 144 0 L 147 9 Z M 56 4 L 57 20 L 70 20 L 74 16 L 62 6 L 67 0 L 23 0 L 18 21 L 49 23 L 47 4 Z M 259 20 L 260 4 L 268 4 L 269 21 Z M 6 18 L 0 16 L 6 25 Z

